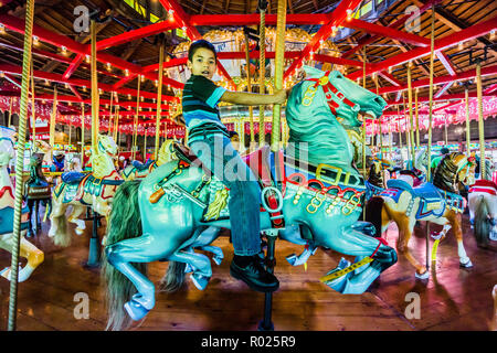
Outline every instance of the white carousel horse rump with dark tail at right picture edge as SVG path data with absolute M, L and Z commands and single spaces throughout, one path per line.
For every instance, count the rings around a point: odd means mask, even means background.
M 469 186 L 469 220 L 479 247 L 487 248 L 497 242 L 497 184 L 491 181 L 494 163 L 485 163 L 485 180 Z M 494 243 L 496 244 L 496 243 Z

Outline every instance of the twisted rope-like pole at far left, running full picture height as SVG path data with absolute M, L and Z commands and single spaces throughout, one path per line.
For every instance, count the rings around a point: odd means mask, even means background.
M 29 100 L 29 79 L 31 44 L 33 34 L 33 14 L 34 1 L 27 1 L 25 11 L 25 32 L 24 49 L 22 55 L 22 83 L 21 83 L 21 103 L 19 111 L 19 133 L 18 133 L 18 151 L 15 157 L 15 197 L 14 197 L 14 216 L 12 231 L 12 260 L 10 267 L 10 297 L 9 297 L 9 319 L 7 324 L 8 331 L 15 331 L 17 313 L 18 313 L 18 280 L 19 280 L 19 247 L 21 242 L 21 207 L 23 192 L 23 165 L 25 150 L 25 128 L 28 120 L 28 100 Z

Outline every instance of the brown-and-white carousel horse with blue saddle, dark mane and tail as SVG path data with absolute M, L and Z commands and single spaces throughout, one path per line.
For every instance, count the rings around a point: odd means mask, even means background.
M 388 181 L 385 191 L 368 202 L 366 220 L 374 225 L 378 236 L 387 231 L 390 222 L 395 222 L 399 228 L 396 249 L 415 267 L 416 278 L 427 278 L 430 275 L 426 267 L 411 255 L 408 246 L 416 221 L 444 225 L 435 238 L 444 238 L 452 227 L 457 239 L 461 265 L 473 266 L 464 249 L 461 228 L 461 214 L 466 207 L 466 201 L 458 194 L 455 185 L 457 182 L 469 184 L 475 167 L 474 159 L 468 160 L 463 153 L 453 152 L 446 154 L 435 169 L 433 184 L 426 182 L 413 186 L 415 174 L 401 173 L 398 179 Z

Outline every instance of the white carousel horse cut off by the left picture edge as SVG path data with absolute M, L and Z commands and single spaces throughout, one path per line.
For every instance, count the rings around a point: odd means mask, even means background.
M 14 147 L 11 138 L 7 133 L 6 128 L 1 128 L 0 135 L 0 248 L 12 252 L 13 248 L 13 220 L 14 220 L 14 191 L 9 176 L 7 167 L 11 159 L 14 158 Z M 29 210 L 27 206 L 22 207 L 21 215 L 21 243 L 20 256 L 24 257 L 28 263 L 19 270 L 18 281 L 27 280 L 34 269 L 43 263 L 44 254 L 33 244 L 24 238 L 29 228 Z M 3 278 L 10 280 L 10 267 L 0 270 Z

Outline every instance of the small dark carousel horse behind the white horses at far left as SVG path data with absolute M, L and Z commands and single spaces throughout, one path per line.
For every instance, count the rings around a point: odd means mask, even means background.
M 38 234 L 38 231 L 41 228 L 40 216 L 39 216 L 39 207 L 40 204 L 46 208 L 47 214 L 50 215 L 52 208 L 52 191 L 51 191 L 51 182 L 49 182 L 43 174 L 42 163 L 43 163 L 43 153 L 34 152 L 30 158 L 30 178 L 25 182 L 24 196 L 28 202 L 28 207 L 30 210 L 30 227 L 28 228 L 28 237 L 32 237 Z M 34 213 L 34 232 L 32 226 L 32 217 Z

